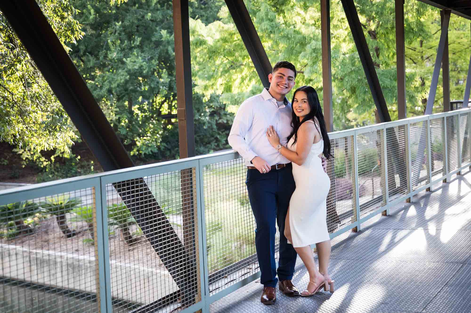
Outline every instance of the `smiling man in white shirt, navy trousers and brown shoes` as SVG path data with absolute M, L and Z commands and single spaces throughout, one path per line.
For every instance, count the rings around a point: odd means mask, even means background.
M 284 236 L 284 221 L 294 191 L 291 162 L 273 148 L 267 140 L 268 126 L 273 125 L 286 146 L 292 132 L 291 104 L 286 100 L 294 86 L 296 68 L 292 63 L 280 61 L 268 74 L 270 87 L 245 100 L 234 118 L 228 137 L 229 145 L 245 159 L 245 181 L 257 228 L 255 248 L 263 284 L 261 302 L 276 301 L 276 283 L 287 296 L 297 296 L 298 289 L 291 279 L 296 264 L 296 251 Z M 323 162 L 325 168 L 325 162 Z M 280 245 L 278 268 L 275 265 L 275 221 L 278 224 Z M 278 278 L 276 278 L 278 276 Z

